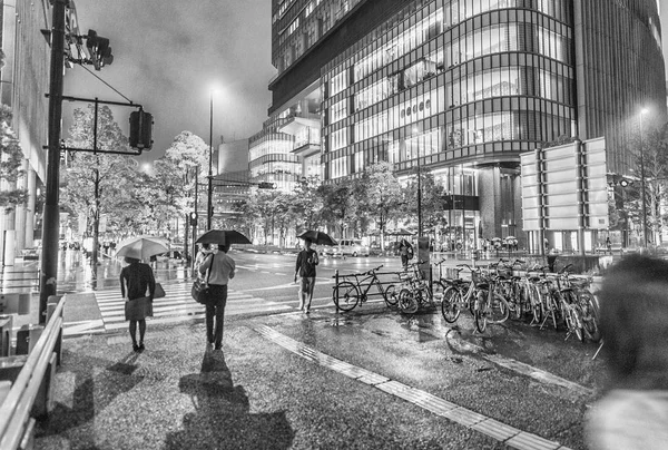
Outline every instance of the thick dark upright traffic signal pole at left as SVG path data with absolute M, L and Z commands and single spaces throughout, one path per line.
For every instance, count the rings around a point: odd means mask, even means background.
M 47 154 L 46 199 L 42 217 L 41 276 L 39 281 L 39 323 L 47 322 L 47 303 L 56 295 L 58 239 L 60 234 L 60 121 L 62 119 L 62 72 L 65 61 L 65 12 L 68 0 L 52 0 L 51 67 L 49 81 L 49 145 Z

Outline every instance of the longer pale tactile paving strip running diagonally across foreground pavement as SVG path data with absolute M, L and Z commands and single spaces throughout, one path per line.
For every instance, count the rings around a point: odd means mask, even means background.
M 265 339 L 308 361 L 340 372 L 365 384 L 375 387 L 383 392 L 399 397 L 420 408 L 431 411 L 434 414 L 441 415 L 461 425 L 489 436 L 490 438 L 495 439 L 499 442 L 503 442 L 514 449 L 570 450 L 568 447 L 563 447 L 559 442 L 550 441 L 541 438 L 540 436 L 524 432 L 514 427 L 510 427 L 505 423 L 488 418 L 487 415 L 430 394 L 429 392 L 411 388 L 407 384 L 391 380 L 381 374 L 367 371 L 366 369 L 358 368 L 328 354 L 318 352 L 317 350 L 312 349 L 302 342 L 295 341 L 292 338 L 278 333 L 276 330 L 267 325 L 262 325 L 254 330 Z

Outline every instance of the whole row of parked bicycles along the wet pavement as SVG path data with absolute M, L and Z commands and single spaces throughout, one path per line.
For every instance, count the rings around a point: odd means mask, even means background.
M 444 262 L 434 264 L 439 273 Z M 365 303 L 370 295 L 377 295 L 387 306 L 406 314 L 440 304 L 448 323 L 455 323 L 461 312 L 468 311 L 480 333 L 489 324 L 512 317 L 529 321 L 540 329 L 564 327 L 566 339 L 574 335 L 580 341 L 600 340 L 598 303 L 588 288 L 591 280 L 572 276 L 572 265 L 559 273 L 549 273 L 548 266 L 529 268 L 521 260 L 500 260 L 485 267 L 459 264 L 456 276 L 436 276 L 430 282 L 420 270 L 422 263 L 395 273 L 397 280 L 391 283 L 381 282 L 382 265 L 364 273 L 337 275 L 334 304 L 341 311 L 351 311 Z M 462 271 L 469 276 L 461 276 Z

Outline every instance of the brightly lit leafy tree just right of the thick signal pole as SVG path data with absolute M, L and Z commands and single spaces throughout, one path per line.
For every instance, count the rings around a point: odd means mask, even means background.
M 94 106 L 76 109 L 69 129 L 67 147 L 94 148 Z M 102 214 L 116 216 L 118 212 L 137 215 L 140 205 L 134 195 L 137 163 L 128 156 L 105 154 L 130 151 L 128 139 L 122 134 L 107 106 L 98 109 L 96 154 L 75 153 L 66 167 L 62 204 L 77 215 L 85 215 L 92 236 L 92 263 L 97 263 L 99 221 Z M 128 195 L 130 193 L 130 195 Z M 129 199 L 128 199 L 129 197 Z M 129 204 L 128 204 L 129 203 Z M 143 217 L 143 215 L 140 215 Z

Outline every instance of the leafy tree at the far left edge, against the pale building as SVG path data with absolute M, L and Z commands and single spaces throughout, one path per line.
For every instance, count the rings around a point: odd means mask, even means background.
M 6 211 L 24 205 L 28 200 L 28 192 L 16 187 L 17 180 L 23 175 L 23 153 L 11 128 L 11 109 L 7 105 L 0 105 L 0 179 L 10 186 L 0 189 L 0 207 Z

